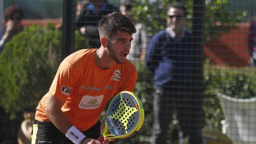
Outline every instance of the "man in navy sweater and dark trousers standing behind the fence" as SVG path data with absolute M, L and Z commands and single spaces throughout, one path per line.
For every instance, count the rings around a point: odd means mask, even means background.
M 176 3 L 167 15 L 168 27 L 152 36 L 145 58 L 156 86 L 152 143 L 167 143 L 168 137 L 173 138 L 168 136 L 169 124 L 177 117 L 179 143 L 189 136 L 189 144 L 201 144 L 202 99 L 193 95 L 193 39 L 185 27 L 186 8 Z

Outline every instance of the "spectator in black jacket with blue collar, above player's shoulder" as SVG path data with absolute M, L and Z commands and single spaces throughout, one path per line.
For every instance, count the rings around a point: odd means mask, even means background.
M 79 32 L 89 40 L 90 47 L 100 47 L 98 22 L 105 15 L 119 11 L 106 0 L 90 0 L 77 18 Z

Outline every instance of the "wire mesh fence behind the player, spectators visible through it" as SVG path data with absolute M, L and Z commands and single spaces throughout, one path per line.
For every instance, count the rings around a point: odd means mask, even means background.
M 127 59 L 138 70 L 134 93 L 145 121 L 115 143 L 256 143 L 255 0 L 12 0 L 5 7 L 11 3 L 27 19 L 63 17 L 62 58 L 100 47 L 104 15 L 134 20 Z

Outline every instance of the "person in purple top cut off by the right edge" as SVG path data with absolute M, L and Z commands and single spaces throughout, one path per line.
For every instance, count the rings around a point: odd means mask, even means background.
M 250 66 L 256 66 L 256 20 L 252 20 L 250 23 L 248 47 L 250 52 Z

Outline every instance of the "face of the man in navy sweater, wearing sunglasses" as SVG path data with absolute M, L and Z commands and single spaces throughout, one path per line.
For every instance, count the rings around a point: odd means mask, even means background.
M 186 24 L 186 17 L 184 11 L 180 8 L 170 8 L 167 13 L 167 24 L 175 32 L 181 31 L 184 25 Z

